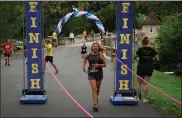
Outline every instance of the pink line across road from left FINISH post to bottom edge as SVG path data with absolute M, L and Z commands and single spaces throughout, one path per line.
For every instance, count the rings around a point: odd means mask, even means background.
M 90 118 L 94 118 L 84 107 L 82 107 L 74 98 L 73 96 L 65 89 L 65 87 L 61 84 L 61 82 L 57 79 L 55 74 L 52 72 L 50 67 L 47 65 L 49 72 L 52 74 L 54 80 L 59 84 L 59 86 L 64 90 L 64 92 L 73 100 L 73 102 L 83 111 L 85 112 Z

